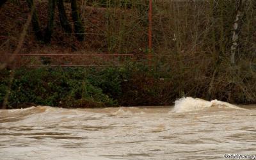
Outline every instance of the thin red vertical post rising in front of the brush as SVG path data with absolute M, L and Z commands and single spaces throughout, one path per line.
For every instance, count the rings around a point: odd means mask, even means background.
M 148 62 L 151 65 L 152 60 L 152 0 L 149 0 L 148 10 Z

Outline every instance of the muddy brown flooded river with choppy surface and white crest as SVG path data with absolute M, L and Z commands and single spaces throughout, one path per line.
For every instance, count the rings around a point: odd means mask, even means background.
M 0 159 L 224 159 L 256 155 L 256 106 L 0 110 Z M 252 158 L 253 159 L 253 158 Z

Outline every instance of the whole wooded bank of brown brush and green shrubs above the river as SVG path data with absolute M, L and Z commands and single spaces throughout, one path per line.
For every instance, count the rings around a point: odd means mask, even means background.
M 42 33 L 49 24 L 49 2 L 35 0 Z M 148 65 L 148 1 L 77 1 L 83 38 L 77 38 L 70 1 L 65 12 L 72 33 L 54 13 L 51 41 L 38 40 L 29 25 L 19 53 L 134 54 L 132 58 L 24 56 L 1 64 L 0 103 L 8 108 L 35 104 L 61 107 L 170 105 L 182 96 L 249 104 L 256 102 L 256 3 L 245 1 L 154 1 L 153 58 Z M 239 45 L 230 64 L 237 10 Z M 9 0 L 0 8 L 0 53 L 13 53 L 30 10 L 26 1 Z M 51 65 L 109 67 L 51 67 Z M 118 65 L 118 67 L 116 67 Z M 6 96 L 8 95 L 8 96 Z

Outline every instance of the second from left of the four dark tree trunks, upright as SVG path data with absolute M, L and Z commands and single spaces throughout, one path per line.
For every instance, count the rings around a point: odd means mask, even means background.
M 49 0 L 48 1 L 48 22 L 47 28 L 45 29 L 45 36 L 44 42 L 49 43 L 51 42 L 52 31 L 54 27 L 54 15 L 55 15 L 55 8 L 56 8 L 56 0 Z

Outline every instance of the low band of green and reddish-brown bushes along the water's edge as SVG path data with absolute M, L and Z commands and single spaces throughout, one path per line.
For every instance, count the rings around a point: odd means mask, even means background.
M 140 63 L 104 68 L 9 68 L 0 71 L 0 104 L 3 105 L 9 89 L 7 108 L 36 105 L 61 108 L 170 106 L 184 96 L 207 99 L 208 88 L 189 88 L 190 84 L 182 87 L 171 72 L 165 76 L 162 74 Z M 11 75 L 13 80 L 9 85 Z M 198 81 L 191 82 L 195 83 Z M 235 93 L 230 95 L 230 99 L 223 95 L 216 95 L 214 99 L 248 104 Z

